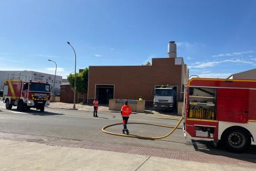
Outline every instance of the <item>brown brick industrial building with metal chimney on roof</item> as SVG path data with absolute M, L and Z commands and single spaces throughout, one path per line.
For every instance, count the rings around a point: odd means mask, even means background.
M 108 99 L 139 99 L 146 105 L 154 100 L 154 89 L 161 85 L 176 88 L 178 101 L 183 101 L 184 81 L 188 77 L 183 58 L 176 57 L 176 44 L 168 46 L 169 58 L 152 58 L 151 66 L 89 66 L 87 101 L 95 97 L 99 102 Z

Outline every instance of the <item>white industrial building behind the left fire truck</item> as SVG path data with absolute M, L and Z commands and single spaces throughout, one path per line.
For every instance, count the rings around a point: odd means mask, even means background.
M 4 81 L 8 78 L 20 78 L 32 81 L 49 82 L 54 85 L 54 75 L 49 73 L 36 72 L 31 70 L 0 70 L 0 89 L 4 87 Z M 60 94 L 60 85 L 62 82 L 62 76 L 56 75 L 54 93 Z

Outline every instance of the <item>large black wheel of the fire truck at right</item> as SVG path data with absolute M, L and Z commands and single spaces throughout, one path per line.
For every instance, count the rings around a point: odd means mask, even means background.
M 243 129 L 231 128 L 225 132 L 222 142 L 231 152 L 242 153 L 251 146 L 251 136 Z

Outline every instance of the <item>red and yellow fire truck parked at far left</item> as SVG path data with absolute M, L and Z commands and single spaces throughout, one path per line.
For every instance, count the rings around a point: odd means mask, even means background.
M 8 110 L 17 106 L 19 111 L 30 108 L 45 111 L 45 106 L 51 100 L 51 85 L 45 82 L 6 79 L 2 100 Z

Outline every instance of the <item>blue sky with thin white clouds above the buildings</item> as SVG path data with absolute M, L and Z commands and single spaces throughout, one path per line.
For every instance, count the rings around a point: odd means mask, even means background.
M 77 68 L 141 65 L 175 40 L 190 75 L 256 67 L 256 1 L 0 1 L 0 70 L 66 77 Z M 77 70 L 78 70 L 77 69 Z

